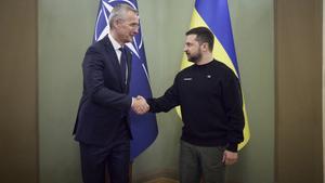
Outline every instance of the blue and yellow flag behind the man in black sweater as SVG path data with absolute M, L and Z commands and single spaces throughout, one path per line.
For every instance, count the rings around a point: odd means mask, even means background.
M 240 79 L 227 1 L 196 0 L 190 28 L 202 26 L 208 27 L 214 35 L 214 45 L 212 52 L 213 57 L 229 66 Z M 187 57 L 184 53 L 181 69 L 188 67 L 192 64 L 193 63 L 187 61 Z M 244 141 L 238 145 L 238 149 L 243 148 L 247 144 L 250 136 L 244 99 L 243 102 L 243 110 L 245 116 Z M 178 114 L 180 115 L 179 108 Z

